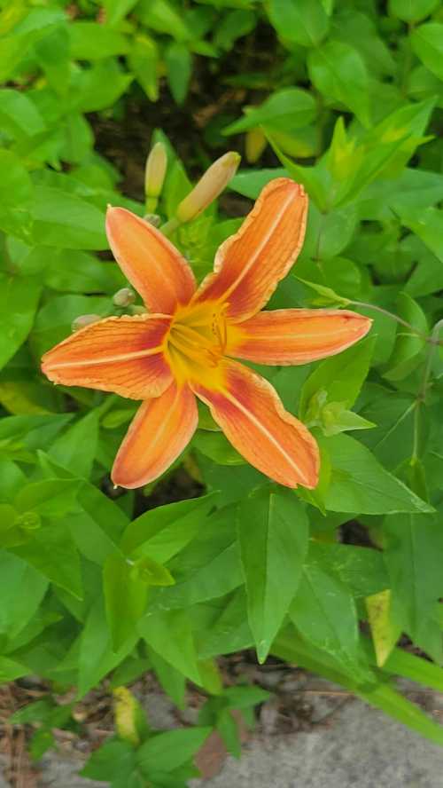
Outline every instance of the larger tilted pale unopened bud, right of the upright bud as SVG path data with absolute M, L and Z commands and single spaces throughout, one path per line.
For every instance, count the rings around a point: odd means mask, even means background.
M 198 217 L 219 196 L 236 174 L 240 158 L 239 154 L 229 151 L 206 169 L 198 184 L 178 206 L 176 217 L 179 222 L 190 222 Z

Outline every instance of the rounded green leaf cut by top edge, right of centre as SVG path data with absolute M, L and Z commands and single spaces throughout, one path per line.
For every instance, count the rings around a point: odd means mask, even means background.
M 328 32 L 328 14 L 321 0 L 271 0 L 268 13 L 284 41 L 314 47 Z

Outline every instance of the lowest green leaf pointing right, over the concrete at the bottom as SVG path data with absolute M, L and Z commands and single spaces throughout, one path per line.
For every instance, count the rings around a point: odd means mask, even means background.
M 148 777 L 155 772 L 170 772 L 190 760 L 211 731 L 211 728 L 194 726 L 157 733 L 138 748 L 137 764 Z

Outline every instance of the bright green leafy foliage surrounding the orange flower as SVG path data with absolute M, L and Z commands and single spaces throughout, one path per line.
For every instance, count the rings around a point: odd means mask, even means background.
M 83 776 L 182 788 L 212 730 L 240 753 L 232 712 L 251 721 L 268 693 L 223 687 L 217 658 L 255 649 L 442 745 L 441 727 L 388 681 L 443 687 L 440 4 L 75 9 L 0 2 L 0 682 L 36 674 L 53 688 L 12 721 L 35 726 L 39 759 L 52 729 L 82 732 L 74 706 L 52 696 L 74 687 L 82 698 L 106 679 L 116 735 Z M 305 244 L 268 308 L 373 319 L 339 355 L 260 367 L 315 435 L 320 483 L 270 484 L 200 406 L 189 449 L 158 485 L 113 491 L 136 403 L 54 387 L 41 356 L 80 315 L 125 313 L 105 209 L 144 216 L 150 146 L 167 150 L 164 224 L 196 174 L 253 135 L 256 161 L 228 199 L 169 229 L 199 280 L 245 198 L 275 177 L 305 186 Z M 137 296 L 126 312 L 140 306 Z M 400 634 L 423 657 L 397 648 Z M 150 728 L 125 689 L 147 670 L 180 708 L 187 682 L 206 693 L 196 726 Z

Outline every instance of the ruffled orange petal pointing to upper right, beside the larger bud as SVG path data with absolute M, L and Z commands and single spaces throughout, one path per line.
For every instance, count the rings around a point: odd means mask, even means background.
M 228 303 L 226 316 L 236 322 L 256 314 L 299 255 L 306 217 L 303 187 L 284 177 L 270 181 L 239 231 L 221 244 L 195 301 Z

